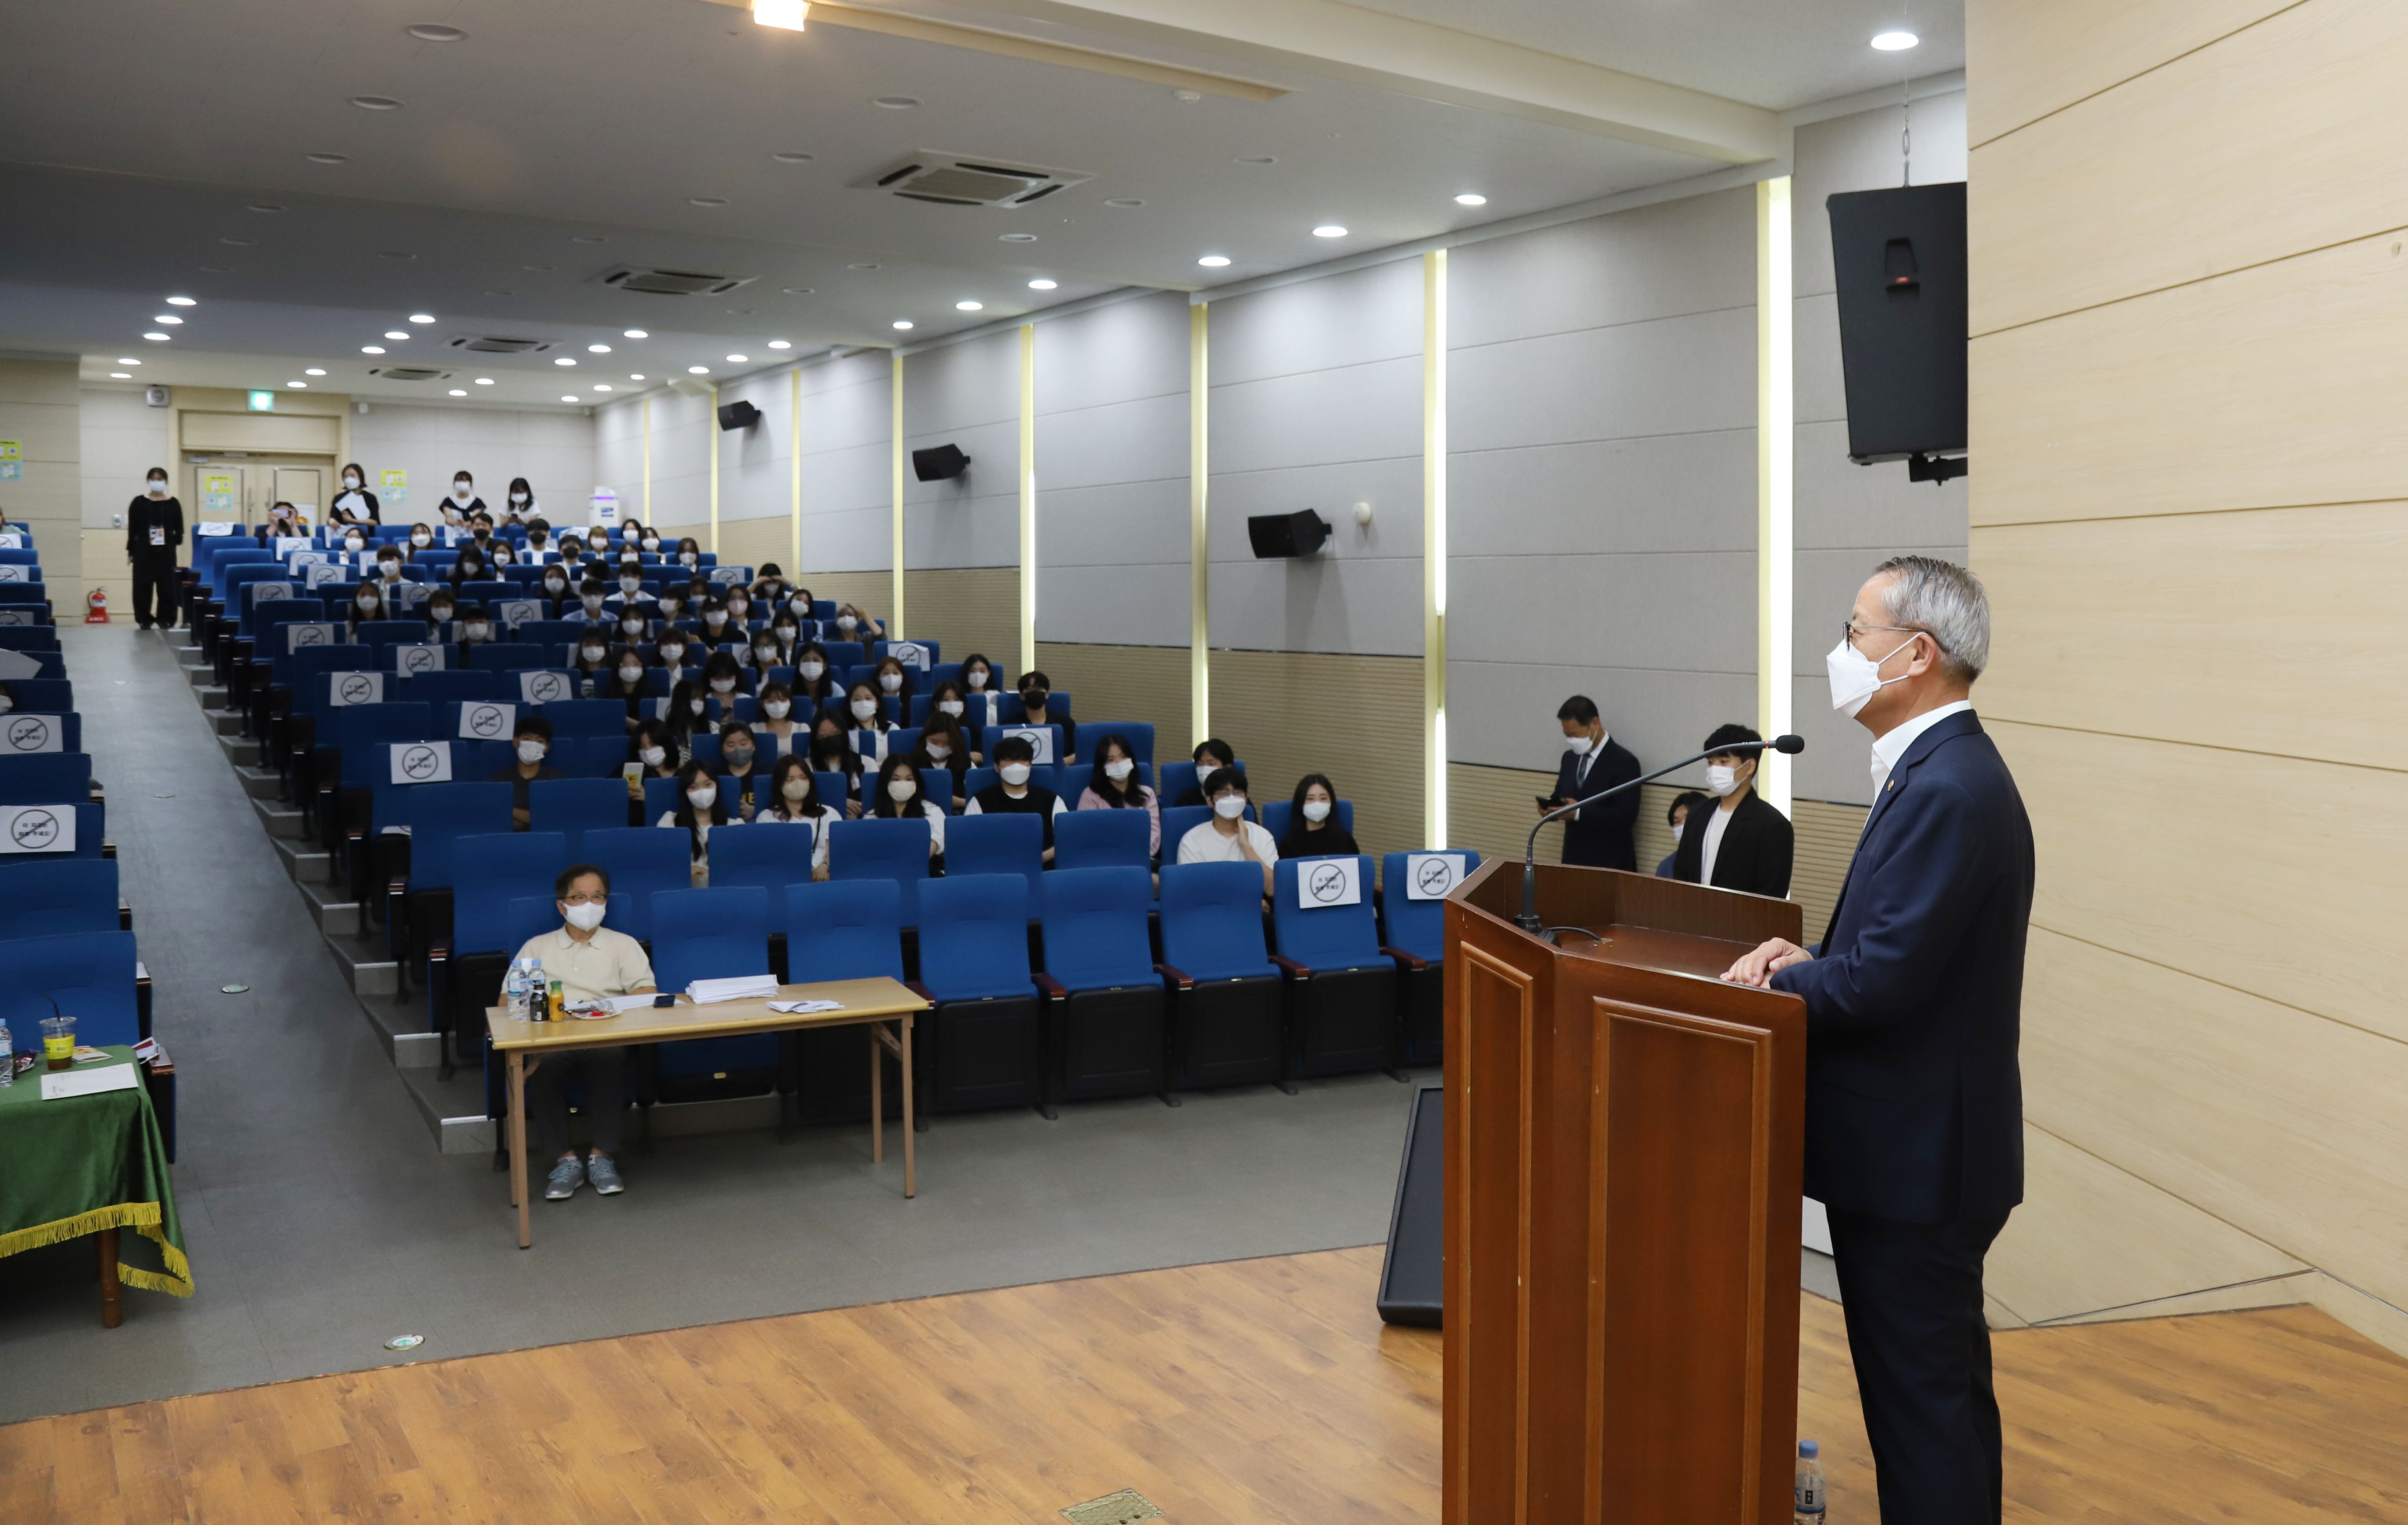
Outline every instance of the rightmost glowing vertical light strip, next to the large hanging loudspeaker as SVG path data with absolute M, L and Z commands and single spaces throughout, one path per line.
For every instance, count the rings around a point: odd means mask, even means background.
M 1789 730 L 1796 694 L 1792 316 L 1789 176 L 1777 176 L 1755 183 L 1755 725 L 1767 737 Z M 1792 814 L 1789 759 L 1780 752 L 1765 754 L 1758 793 L 1782 814 Z

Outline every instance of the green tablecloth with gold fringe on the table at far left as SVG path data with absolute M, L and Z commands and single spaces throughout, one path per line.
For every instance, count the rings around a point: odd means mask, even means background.
M 130 1048 L 111 1046 L 132 1065 Z M 108 1070 L 108 1065 L 82 1065 Z M 36 1065 L 0 1089 L 0 1255 L 53 1246 L 101 1229 L 132 1229 L 159 1246 L 164 1270 L 120 1258 L 118 1279 L 149 1291 L 193 1296 L 193 1265 L 183 1258 L 176 1188 L 166 1178 L 166 1144 L 149 1091 L 41 1099 Z

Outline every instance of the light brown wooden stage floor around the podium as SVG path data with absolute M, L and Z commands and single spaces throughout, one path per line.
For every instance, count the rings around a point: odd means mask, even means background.
M 1438 1520 L 1438 1337 L 1380 1250 L 628 1335 L 0 1429 L 7 1525 Z M 96 1335 L 101 1337 L 101 1335 Z M 2408 1520 L 2408 1361 L 2307 1308 L 1996 1337 L 2011 1520 Z M 1801 1433 L 1876 1520 L 1840 1311 Z M 0 1373 L 5 1380 L 5 1373 Z

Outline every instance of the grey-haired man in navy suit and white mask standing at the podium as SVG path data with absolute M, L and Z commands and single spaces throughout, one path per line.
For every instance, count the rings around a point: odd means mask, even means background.
M 1806 1000 L 1806 1193 L 1830 1241 L 1885 1525 L 1996 1525 L 1982 1258 L 2023 1202 L 2023 942 L 2032 824 L 1972 713 L 1989 600 L 1893 557 L 1828 658 L 1873 732 L 1873 809 L 1816 947 L 1722 976 Z

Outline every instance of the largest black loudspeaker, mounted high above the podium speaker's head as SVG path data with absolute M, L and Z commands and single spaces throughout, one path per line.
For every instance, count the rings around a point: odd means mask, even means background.
M 1931 458 L 1965 451 L 1965 183 L 1852 190 L 1825 207 L 1849 460 L 1963 477 L 1963 460 Z

